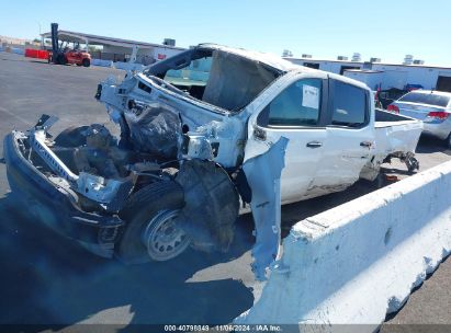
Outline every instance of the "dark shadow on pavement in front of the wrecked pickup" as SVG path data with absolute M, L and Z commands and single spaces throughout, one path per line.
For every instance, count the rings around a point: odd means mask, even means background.
M 187 251 L 170 262 L 125 266 L 86 252 L 16 205 L 11 194 L 0 199 L 0 263 L 8 267 L 0 275 L 2 324 L 50 329 L 90 318 L 120 324 L 229 323 L 252 306 L 251 290 L 238 280 L 185 282 L 239 256 L 249 244 L 227 254 Z

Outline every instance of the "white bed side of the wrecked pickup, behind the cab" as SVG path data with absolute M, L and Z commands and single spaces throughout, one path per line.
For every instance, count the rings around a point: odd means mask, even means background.
M 415 152 L 422 122 L 376 108 L 374 127 L 377 154 L 387 156 L 398 151 Z

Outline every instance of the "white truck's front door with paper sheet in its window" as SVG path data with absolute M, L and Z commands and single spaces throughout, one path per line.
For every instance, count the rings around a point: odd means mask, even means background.
M 281 176 L 281 202 L 297 202 L 311 186 L 326 140 L 324 110 L 327 78 L 302 78 L 263 103 L 248 124 L 245 159 L 258 156 L 281 137 L 289 139 Z

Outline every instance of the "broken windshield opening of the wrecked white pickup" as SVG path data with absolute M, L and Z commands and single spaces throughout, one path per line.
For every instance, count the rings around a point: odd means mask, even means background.
M 221 49 L 194 48 L 157 62 L 144 73 L 165 80 L 187 95 L 237 112 L 249 104 L 280 71 Z M 154 78 L 153 78 L 154 77 Z

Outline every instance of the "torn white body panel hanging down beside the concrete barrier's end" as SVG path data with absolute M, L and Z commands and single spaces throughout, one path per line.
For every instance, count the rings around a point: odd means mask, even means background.
M 280 177 L 285 166 L 285 149 L 289 140 L 281 137 L 268 147 L 252 140 L 246 147 L 243 164 L 252 192 L 250 207 L 256 226 L 256 244 L 252 248 L 252 271 L 259 280 L 266 279 L 266 269 L 277 260 L 281 239 Z M 262 147 L 267 151 L 262 152 Z M 258 146 L 258 147 L 255 147 Z

